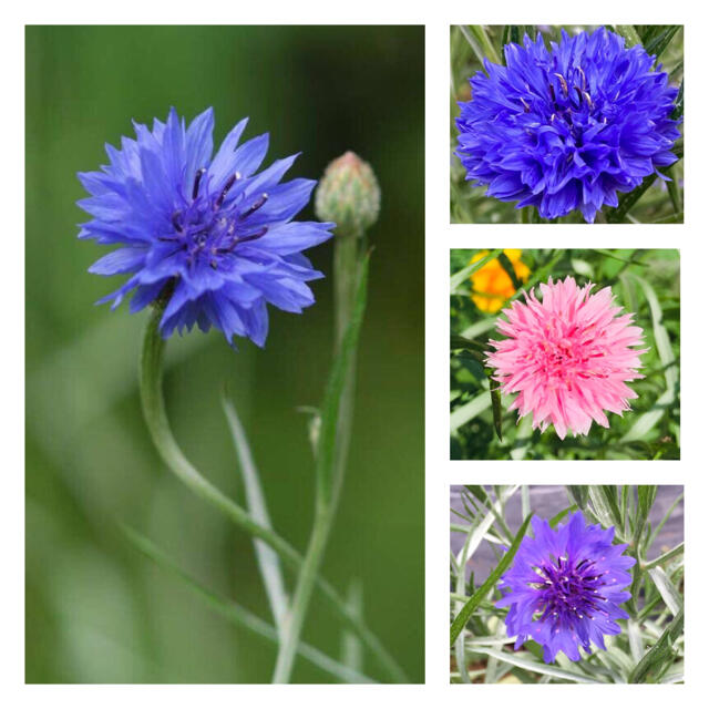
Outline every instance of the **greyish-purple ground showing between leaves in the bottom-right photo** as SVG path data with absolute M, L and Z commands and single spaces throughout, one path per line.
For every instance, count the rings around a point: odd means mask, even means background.
M 462 512 L 464 510 L 461 502 L 462 485 L 451 486 L 451 522 L 461 524 L 461 517 L 453 513 L 453 510 Z M 650 522 L 655 526 L 667 513 L 677 495 L 682 491 L 682 485 L 660 485 L 657 491 L 655 504 L 650 510 Z M 530 507 L 541 517 L 553 517 L 555 514 L 569 505 L 566 490 L 562 485 L 530 485 Z M 522 496 L 516 492 L 507 502 L 505 508 L 505 521 L 512 531 L 516 531 L 522 523 Z M 675 507 L 667 524 L 662 527 L 659 536 L 650 547 L 649 556 L 654 558 L 662 551 L 676 546 L 685 538 L 685 501 Z M 458 554 L 465 541 L 465 535 L 451 531 L 451 552 Z M 495 556 L 487 542 L 483 542 L 473 557 L 467 563 L 467 575 L 473 572 L 475 578 L 485 578 L 495 565 Z

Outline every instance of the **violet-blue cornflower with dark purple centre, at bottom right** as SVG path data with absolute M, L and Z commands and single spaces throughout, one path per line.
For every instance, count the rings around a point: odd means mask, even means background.
M 535 516 L 532 528 L 535 536 L 522 541 L 502 576 L 500 586 L 508 592 L 496 603 L 510 608 L 505 624 L 508 637 L 517 637 L 515 649 L 535 640 L 545 662 L 559 650 L 579 660 L 578 646 L 590 653 L 592 641 L 605 650 L 604 635 L 618 635 L 615 620 L 628 617 L 619 606 L 630 598 L 623 590 L 635 564 L 623 556 L 628 545 L 613 544 L 614 527 L 586 526 L 580 512 L 556 530 Z

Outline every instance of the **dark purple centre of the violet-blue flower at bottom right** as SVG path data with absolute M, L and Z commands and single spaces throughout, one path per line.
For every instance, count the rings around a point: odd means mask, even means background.
M 598 572 L 593 561 L 584 558 L 573 564 L 568 557 L 549 557 L 548 564 L 532 567 L 540 580 L 530 582 L 538 590 L 534 608 L 538 620 L 552 619 L 563 625 L 578 618 L 608 615 L 599 606 L 606 600 L 600 588 L 606 585 L 607 572 Z

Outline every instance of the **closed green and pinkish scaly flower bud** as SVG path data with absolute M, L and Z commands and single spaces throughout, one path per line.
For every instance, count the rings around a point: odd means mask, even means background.
M 326 168 L 315 195 L 321 222 L 335 222 L 337 232 L 362 236 L 379 216 L 380 192 L 374 172 L 351 151 Z

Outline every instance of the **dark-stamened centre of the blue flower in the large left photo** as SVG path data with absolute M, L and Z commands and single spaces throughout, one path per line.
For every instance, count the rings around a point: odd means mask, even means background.
M 255 228 L 245 224 L 268 201 L 268 194 L 261 193 L 251 201 L 237 196 L 227 201 L 234 186 L 243 179 L 240 173 L 230 175 L 217 189 L 204 184 L 206 169 L 199 168 L 193 182 L 192 201 L 185 201 L 183 208 L 175 209 L 172 215 L 174 233 L 158 237 L 162 242 L 171 242 L 177 250 L 186 251 L 189 266 L 208 264 L 218 269 L 225 261 L 234 258 L 234 250 L 239 244 L 253 242 L 268 232 L 267 226 Z

